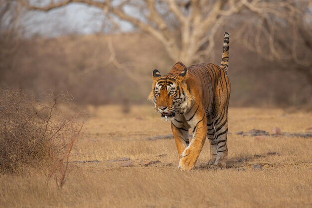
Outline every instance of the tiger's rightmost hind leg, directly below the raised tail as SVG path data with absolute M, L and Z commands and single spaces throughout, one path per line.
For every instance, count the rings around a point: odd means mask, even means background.
M 215 117 L 215 140 L 213 144 L 216 145 L 216 160 L 212 167 L 216 168 L 226 168 L 227 160 L 227 132 L 228 132 L 228 123 L 227 123 L 227 109 L 223 109 L 220 115 Z

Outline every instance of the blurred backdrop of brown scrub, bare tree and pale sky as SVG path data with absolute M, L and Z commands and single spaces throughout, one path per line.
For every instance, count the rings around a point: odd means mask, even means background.
M 221 61 L 230 106 L 312 106 L 309 0 L 0 0 L 0 88 L 145 104 L 151 73 Z

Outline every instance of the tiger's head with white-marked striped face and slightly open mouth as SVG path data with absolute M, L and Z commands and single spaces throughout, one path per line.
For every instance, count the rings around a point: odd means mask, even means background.
M 152 92 L 149 100 L 153 101 L 154 107 L 165 120 L 171 119 L 175 114 L 185 112 L 192 101 L 186 80 L 188 78 L 187 68 L 178 75 L 171 73 L 161 76 L 155 69 L 152 73 Z

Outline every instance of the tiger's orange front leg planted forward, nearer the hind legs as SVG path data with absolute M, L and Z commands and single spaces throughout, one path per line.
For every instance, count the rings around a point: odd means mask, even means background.
M 179 168 L 183 170 L 191 170 L 195 166 L 207 134 L 206 114 L 201 110 L 195 112 L 195 115 L 189 118 L 188 122 L 193 128 L 193 138 L 189 146 L 181 154 Z

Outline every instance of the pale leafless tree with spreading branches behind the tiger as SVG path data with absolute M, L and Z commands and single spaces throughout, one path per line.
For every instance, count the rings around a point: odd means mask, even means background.
M 126 21 L 153 35 L 171 59 L 185 64 L 213 55 L 217 31 L 232 25 L 241 28 L 238 39 L 249 49 L 270 60 L 292 63 L 312 82 L 309 0 L 50 0 L 47 4 L 19 1 L 40 11 L 70 3 L 100 8 L 115 25 Z

